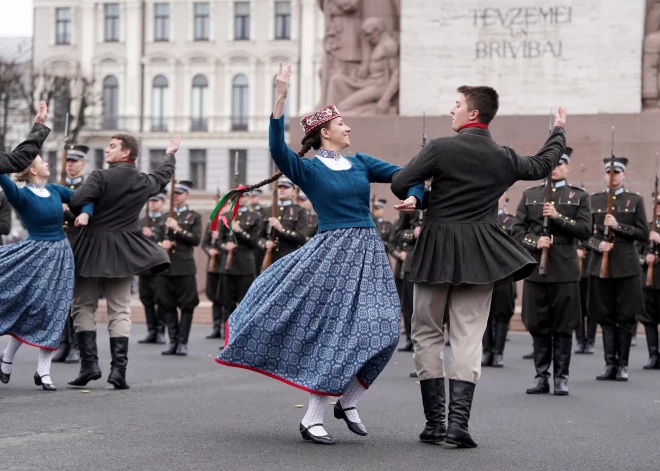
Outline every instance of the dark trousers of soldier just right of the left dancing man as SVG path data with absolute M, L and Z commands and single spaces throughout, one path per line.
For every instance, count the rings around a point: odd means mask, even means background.
M 170 343 L 188 344 L 193 312 L 199 304 L 195 275 L 159 275 L 157 278 L 157 299 L 167 322 Z M 180 320 L 177 309 L 181 310 Z

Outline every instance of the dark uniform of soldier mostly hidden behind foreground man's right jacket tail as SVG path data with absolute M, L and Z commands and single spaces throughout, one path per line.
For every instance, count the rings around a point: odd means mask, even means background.
M 504 209 L 497 212 L 497 221 L 504 231 L 511 235 L 514 216 L 506 213 Z M 504 366 L 504 344 L 509 332 L 509 322 L 513 317 L 516 303 L 516 284 L 502 283 L 493 288 L 493 297 L 490 302 L 488 324 L 482 340 L 483 356 L 482 366 Z

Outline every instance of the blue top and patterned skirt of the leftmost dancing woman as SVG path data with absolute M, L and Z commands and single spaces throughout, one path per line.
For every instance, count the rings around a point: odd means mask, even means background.
M 0 336 L 56 350 L 73 296 L 73 252 L 62 230 L 62 203 L 73 191 L 54 184 L 18 188 L 7 175 L 0 175 L 0 187 L 29 233 L 0 246 Z M 92 214 L 93 205 L 83 212 Z

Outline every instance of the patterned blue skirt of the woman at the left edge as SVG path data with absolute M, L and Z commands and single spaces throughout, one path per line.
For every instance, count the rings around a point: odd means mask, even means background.
M 66 239 L 0 246 L 0 335 L 56 350 L 71 307 L 74 273 Z

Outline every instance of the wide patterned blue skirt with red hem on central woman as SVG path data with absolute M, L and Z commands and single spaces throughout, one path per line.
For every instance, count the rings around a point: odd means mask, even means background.
M 369 387 L 399 340 L 399 297 L 373 228 L 322 232 L 259 276 L 216 361 L 314 394 Z

